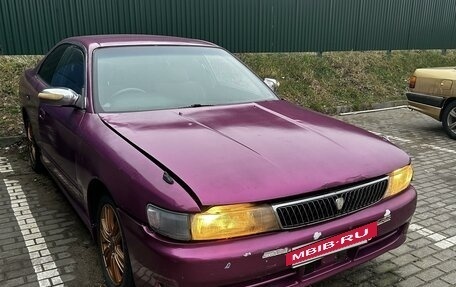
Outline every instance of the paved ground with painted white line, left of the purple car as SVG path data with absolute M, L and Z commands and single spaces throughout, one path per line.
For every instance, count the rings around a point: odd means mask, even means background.
M 0 286 L 102 286 L 95 245 L 24 154 L 0 150 Z

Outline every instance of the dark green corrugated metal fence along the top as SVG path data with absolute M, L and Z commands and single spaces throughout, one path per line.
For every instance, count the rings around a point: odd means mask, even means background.
M 0 0 L 0 53 L 144 33 L 233 52 L 456 48 L 456 0 Z

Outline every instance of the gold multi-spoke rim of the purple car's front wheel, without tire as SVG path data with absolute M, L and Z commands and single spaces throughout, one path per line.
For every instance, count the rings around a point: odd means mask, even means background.
M 122 232 L 114 208 L 105 204 L 100 213 L 100 247 L 106 272 L 111 281 L 120 285 L 125 274 L 125 252 Z

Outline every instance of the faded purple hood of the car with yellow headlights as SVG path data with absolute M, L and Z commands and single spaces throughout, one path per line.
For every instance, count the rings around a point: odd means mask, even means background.
M 285 101 L 100 117 L 204 206 L 302 195 L 378 177 L 410 160 L 384 139 Z

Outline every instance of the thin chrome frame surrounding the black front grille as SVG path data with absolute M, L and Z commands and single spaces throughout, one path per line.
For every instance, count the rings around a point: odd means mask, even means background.
M 302 203 L 307 203 L 307 202 L 311 202 L 311 201 L 315 201 L 315 200 L 319 200 L 319 199 L 324 199 L 324 198 L 329 198 L 329 197 L 332 197 L 332 196 L 338 196 L 340 194 L 344 194 L 344 193 L 347 193 L 347 192 L 350 192 L 352 190 L 355 190 L 355 189 L 360 189 L 360 188 L 364 188 L 364 187 L 368 187 L 370 185 L 373 185 L 373 184 L 376 184 L 376 183 L 379 183 L 379 182 L 382 182 L 382 181 L 388 181 L 389 182 L 389 176 L 384 176 L 382 178 L 379 178 L 379 179 L 376 179 L 376 180 L 373 180 L 373 181 L 369 181 L 369 182 L 366 182 L 366 183 L 363 183 L 363 184 L 359 184 L 359 185 L 355 185 L 355 186 L 351 186 L 351 187 L 348 187 L 348 188 L 345 188 L 345 189 L 342 189 L 342 190 L 338 190 L 338 191 L 333 191 L 333 192 L 330 192 L 330 193 L 326 193 L 326 194 L 323 194 L 323 195 L 319 195 L 319 196 L 313 196 L 313 197 L 308 197 L 308 198 L 304 198 L 304 199 L 299 199 L 299 200 L 294 200 L 294 201 L 288 201 L 288 202 L 283 202 L 283 203 L 277 203 L 277 204 L 272 204 L 272 210 L 274 211 L 274 215 L 277 219 L 277 222 L 279 223 L 279 226 L 280 226 L 280 229 L 282 230 L 291 230 L 291 229 L 296 229 L 296 228 L 299 228 L 299 227 L 284 227 L 282 225 L 282 222 L 280 220 L 280 217 L 278 215 L 278 212 L 277 212 L 277 209 L 278 208 L 281 208 L 281 207 L 288 207 L 288 206 L 291 206 L 291 205 L 297 205 L 297 204 L 302 204 Z M 382 196 L 382 198 L 385 197 L 385 194 L 386 192 L 388 191 L 388 188 L 385 189 L 385 192 Z M 377 201 L 378 202 L 378 201 Z M 345 216 L 345 215 L 348 215 L 348 214 L 352 214 L 354 212 L 357 212 L 359 210 L 362 210 L 362 209 L 365 209 L 369 206 L 372 206 L 374 205 L 375 203 L 377 202 L 374 202 L 370 205 L 367 205 L 361 209 L 358 209 L 358 210 L 354 210 L 352 212 L 348 212 L 348 213 L 345 213 L 345 214 L 341 214 L 339 216 L 335 216 L 335 217 L 331 217 L 331 218 L 328 218 L 328 219 L 323 219 L 321 221 L 318 221 L 318 222 L 314 222 L 314 223 L 311 223 L 311 224 L 308 224 L 308 225 L 313 225 L 313 224 L 317 224 L 317 223 L 321 223 L 321 222 L 325 222 L 325 221 L 328 221 L 328 220 L 332 220 L 334 218 L 338 218 L 338 217 L 341 217 L 341 216 Z M 303 224 L 301 225 L 300 227 L 302 226 L 306 226 L 306 224 Z

